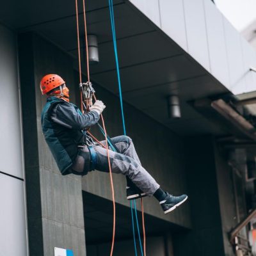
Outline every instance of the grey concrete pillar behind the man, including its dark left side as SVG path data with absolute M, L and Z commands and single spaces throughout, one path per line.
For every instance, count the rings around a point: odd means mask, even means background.
M 40 92 L 40 79 L 45 74 L 60 74 L 67 84 L 72 84 L 72 60 L 33 34 L 19 36 L 19 55 L 30 254 L 53 256 L 56 246 L 84 256 L 81 178 L 61 176 L 40 124 L 46 101 Z M 72 87 L 70 90 L 72 93 Z

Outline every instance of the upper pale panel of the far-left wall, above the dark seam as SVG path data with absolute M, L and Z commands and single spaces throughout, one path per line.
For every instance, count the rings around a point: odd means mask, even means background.
M 1 25 L 0 56 L 0 170 L 23 178 L 16 39 Z

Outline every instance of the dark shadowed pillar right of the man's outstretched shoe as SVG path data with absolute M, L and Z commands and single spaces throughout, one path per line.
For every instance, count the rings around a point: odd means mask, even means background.
M 186 146 L 192 230 L 173 236 L 174 255 L 224 256 L 214 143 L 198 136 Z

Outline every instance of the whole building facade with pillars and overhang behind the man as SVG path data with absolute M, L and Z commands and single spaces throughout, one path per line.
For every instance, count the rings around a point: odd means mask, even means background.
M 53 256 L 54 247 L 76 256 L 108 255 L 108 173 L 61 176 L 40 124 L 45 74 L 63 77 L 79 106 L 75 3 L 13 3 L 0 10 L 3 255 Z M 127 134 L 163 189 L 189 196 L 166 215 L 154 198 L 145 198 L 147 255 L 252 255 L 248 216 L 256 207 L 256 138 L 253 106 L 247 104 L 255 91 L 255 51 L 210 0 L 116 0 L 114 10 Z M 99 41 L 100 61 L 90 67 L 93 87 L 107 106 L 108 134 L 118 136 L 108 3 L 88 0 L 86 13 L 88 33 Z M 80 29 L 83 35 L 82 24 Z M 179 97 L 179 119 L 168 116 L 173 95 Z M 92 132 L 100 138 L 97 129 Z M 125 179 L 113 179 L 114 255 L 132 255 Z M 139 202 L 137 207 L 140 215 Z

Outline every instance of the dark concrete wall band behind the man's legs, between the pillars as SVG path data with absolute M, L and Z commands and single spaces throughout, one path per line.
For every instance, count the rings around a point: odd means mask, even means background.
M 107 106 L 104 111 L 104 118 L 109 136 L 114 137 L 123 134 L 118 97 L 97 86 L 97 84 L 94 88 L 97 91 L 97 98 L 103 100 Z M 169 193 L 173 195 L 188 193 L 184 140 L 129 104 L 124 104 L 124 111 L 127 135 L 132 138 L 145 169 Z M 99 138 L 104 139 L 97 128 L 93 128 L 92 131 L 97 136 L 99 135 Z M 128 206 L 125 178 L 114 173 L 113 180 L 116 202 Z M 108 173 L 92 172 L 84 176 L 83 190 L 111 200 Z M 172 214 L 165 215 L 156 198 L 147 197 L 144 200 L 144 209 L 146 213 L 163 220 L 171 221 L 183 227 L 190 227 L 189 201 L 173 211 Z

